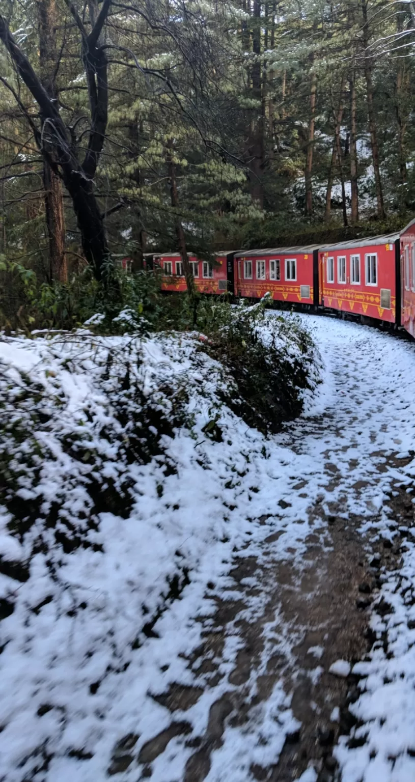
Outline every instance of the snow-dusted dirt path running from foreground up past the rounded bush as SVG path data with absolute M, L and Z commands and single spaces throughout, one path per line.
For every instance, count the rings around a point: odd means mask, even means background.
M 329 668 L 338 659 L 362 659 L 374 640 L 368 621 L 380 561 L 392 561 L 398 549 L 381 540 L 375 546 L 362 522 L 376 526 L 383 510 L 377 489 L 385 492 L 388 465 L 401 461 L 377 442 L 395 425 L 395 407 L 382 398 L 373 367 L 363 372 L 364 339 L 343 346 L 342 355 L 335 344 L 331 349 L 336 404 L 281 437 L 295 454 L 315 460 L 311 488 L 302 479 L 292 490 L 291 504 L 296 495 L 309 498 L 301 563 L 288 556 L 289 547 L 286 556 L 277 553 L 281 529 L 263 540 L 259 554 L 250 554 L 249 540 L 235 552 L 226 592 L 208 584 L 214 610 L 198 617 L 202 644 L 188 655 L 194 683 L 152 694 L 170 712 L 170 725 L 155 731 L 138 756 L 119 745 L 110 773 L 134 762 L 141 780 L 292 782 L 311 766 L 309 780 L 340 779 L 332 748 L 356 722 L 349 704 L 359 691 L 352 676 Z M 280 515 L 287 505 L 280 501 Z

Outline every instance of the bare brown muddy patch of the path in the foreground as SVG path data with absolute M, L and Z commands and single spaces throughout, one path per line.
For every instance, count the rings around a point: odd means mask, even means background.
M 316 425 L 320 429 L 322 423 Z M 335 465 L 327 464 L 325 476 L 334 490 L 339 483 Z M 374 577 L 367 568 L 362 537 L 351 521 L 335 515 L 336 510 L 338 503 L 333 503 L 327 518 L 319 502 L 309 508 L 316 530 L 306 539 L 301 573 L 293 565 L 275 561 L 272 543 L 281 533 L 271 534 L 263 544 L 261 561 L 249 557 L 235 561 L 230 591 L 238 597 L 213 597 L 216 613 L 213 621 L 209 617 L 202 647 L 189 665 L 196 675 L 206 676 L 207 686 L 224 683 L 225 688 L 210 707 L 204 734 L 188 741 L 192 752 L 184 782 L 206 779 L 212 753 L 222 746 L 225 724 L 243 731 L 280 681 L 292 693 L 292 711 L 301 728 L 293 728 L 277 764 L 252 762 L 249 772 L 256 780 L 291 782 L 313 762 L 321 772 L 321 782 L 335 779 L 331 746 L 339 730 L 350 727 L 349 682 L 327 672 L 338 658 L 357 661 L 367 651 L 367 615 L 356 601 L 365 600 L 359 587 Z M 258 597 L 263 600 L 263 611 L 252 622 L 249 609 Z M 221 659 L 229 637 L 237 638 L 240 648 L 234 668 L 227 673 L 221 669 Z M 159 696 L 159 702 L 172 713 L 172 726 L 141 749 L 141 778 L 150 775 L 152 761 L 166 751 L 170 737 L 190 730 L 182 712 L 200 694 L 201 689 L 177 686 Z M 340 716 L 333 720 L 336 708 Z M 180 716 L 175 718 L 175 712 Z

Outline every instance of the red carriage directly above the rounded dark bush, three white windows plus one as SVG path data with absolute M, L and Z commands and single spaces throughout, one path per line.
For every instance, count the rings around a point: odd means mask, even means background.
M 308 245 L 235 253 L 235 294 L 260 299 L 270 292 L 275 301 L 317 304 L 318 249 Z

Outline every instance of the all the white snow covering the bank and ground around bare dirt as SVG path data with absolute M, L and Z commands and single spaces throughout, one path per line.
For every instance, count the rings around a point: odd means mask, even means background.
M 209 710 L 231 687 L 239 649 L 238 637 L 228 635 L 218 662 L 223 678 L 213 687 L 188 665 L 200 644 L 200 620 L 209 624 L 215 609 L 209 584 L 230 597 L 231 561 L 260 560 L 271 533 L 275 560 L 300 570 L 311 529 L 307 508 L 317 500 L 327 515 L 333 501 L 344 518 L 357 515 L 362 532 L 374 539 L 392 535 L 384 504 L 402 473 L 388 458 L 408 457 L 415 442 L 413 343 L 328 317 L 304 321 L 324 356 L 324 383 L 307 397 L 299 421 L 269 439 L 218 403 L 224 376 L 191 337 L 139 346 L 131 337 L 111 338 L 110 350 L 108 340 L 91 335 L 0 343 L 3 399 L 7 386 L 19 400 L 15 420 L 7 411 L 10 443 L 20 443 L 9 466 L 27 524 L 24 536 L 11 539 L 10 517 L 0 517 L 0 768 L 6 782 L 104 779 L 113 748 L 122 751 L 120 741 L 130 742 L 136 758 L 156 734 L 166 730 L 167 736 L 170 712 L 156 695 L 177 682 L 202 692 L 179 714 L 181 729 L 168 734 L 151 770 L 157 782 L 183 779 L 191 741 L 207 730 Z M 126 356 L 123 409 L 145 417 L 154 429 L 151 443 L 131 442 L 128 419 L 117 417 Z M 138 379 L 145 398 L 135 393 Z M 176 436 L 166 425 L 172 415 L 180 427 Z M 207 430 L 216 439 L 202 432 L 209 421 L 219 427 Z M 115 443 L 108 428 L 119 434 Z M 22 448 L 29 468 L 22 467 Z M 327 461 L 340 475 L 335 488 L 327 485 Z M 106 493 L 91 497 L 88 479 L 102 471 Z M 300 480 L 306 493 L 295 490 Z M 91 523 L 96 517 L 99 523 Z M 367 742 L 350 749 L 340 740 L 343 782 L 415 778 L 407 753 L 415 718 L 409 599 L 415 548 L 406 543 L 402 573 L 385 572 L 382 586 L 395 613 L 380 617 L 374 610 L 374 630 L 382 641 L 386 633 L 388 654 L 377 644 L 355 665 L 362 694 L 352 708 Z M 30 574 L 18 570 L 28 558 Z M 14 574 L 7 574 L 8 562 Z M 267 590 L 272 594 L 275 584 Z M 252 593 L 248 622 L 261 611 L 264 594 Z M 164 608 L 146 626 L 146 618 Z M 289 655 L 295 643 L 288 636 L 277 640 L 275 622 L 277 609 L 263 670 L 277 644 Z M 318 662 L 320 647 L 313 654 Z M 206 780 L 243 782 L 252 778 L 252 762 L 277 762 L 296 727 L 290 704 L 277 682 L 243 729 L 228 725 Z M 121 767 L 116 778 L 136 782 L 136 761 Z M 317 775 L 308 769 L 302 779 Z

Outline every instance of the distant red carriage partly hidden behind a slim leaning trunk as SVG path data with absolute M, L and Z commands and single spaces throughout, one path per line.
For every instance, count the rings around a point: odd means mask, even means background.
M 184 292 L 183 261 L 179 253 L 163 253 L 154 255 L 153 262 L 163 269 L 162 290 Z M 191 271 L 195 278 L 195 288 L 199 293 L 223 294 L 234 287 L 234 253 L 226 251 L 217 253 L 215 261 L 199 260 L 195 255 L 189 255 Z

